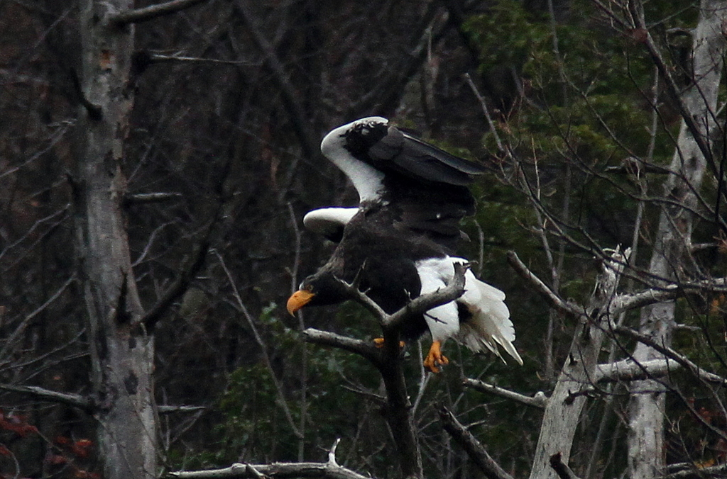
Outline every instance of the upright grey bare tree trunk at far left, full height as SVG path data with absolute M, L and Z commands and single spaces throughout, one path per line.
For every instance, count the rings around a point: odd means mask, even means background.
M 132 7 L 132 0 L 84 0 L 79 21 L 84 109 L 74 178 L 76 237 L 105 479 L 156 477 L 153 341 L 140 322 L 122 211 L 134 26 L 107 22 L 108 15 Z

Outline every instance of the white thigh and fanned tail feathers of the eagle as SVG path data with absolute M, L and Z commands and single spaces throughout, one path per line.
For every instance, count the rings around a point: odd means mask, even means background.
M 430 258 L 417 262 L 422 295 L 448 284 L 454 277 L 454 263 L 467 263 L 464 258 Z M 447 303 L 430 309 L 425 314 L 433 340 L 443 341 L 454 337 L 473 351 L 488 350 L 502 359 L 498 345 L 523 364 L 513 345 L 515 327 L 510 321 L 510 310 L 505 305 L 505 293 L 475 277 L 472 271 L 465 273 L 465 294 L 457 300 L 472 315 L 460 324 L 457 304 Z

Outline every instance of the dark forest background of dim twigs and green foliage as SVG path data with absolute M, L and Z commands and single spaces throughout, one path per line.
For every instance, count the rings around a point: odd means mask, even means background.
M 376 322 L 354 304 L 296 318 L 284 307 L 333 248 L 302 229 L 302 216 L 357 200 L 321 156 L 322 136 L 382 115 L 488 168 L 473 186 L 478 213 L 461 253 L 507 293 L 525 361 L 503 364 L 451 342 L 451 364 L 425 376 L 418 358 L 427 338 L 408 345 L 426 477 L 482 474 L 443 431 L 441 405 L 507 472 L 527 474 L 542 410 L 462 379 L 548 394 L 576 324 L 508 265 L 507 252 L 577 303 L 589 300 L 598 261 L 617 245 L 633 250 L 622 289 L 647 284 L 682 120 L 643 31 L 614 22 L 604 4 L 622 11 L 621 2 L 586 0 L 208 0 L 135 25 L 120 165 L 142 306 L 158 304 L 200 251 L 203 260 L 154 321 L 161 471 L 321 461 L 341 438 L 340 464 L 398 477 L 375 370 L 301 335 L 315 327 L 373 338 Z M 85 114 L 79 8 L 0 0 L 0 474 L 8 478 L 103 469 L 93 414 L 47 394 L 91 393 L 73 196 Z M 643 8 L 677 86 L 688 85 L 696 4 Z M 675 266 L 690 278 L 724 275 L 720 135 L 710 144 L 718 168 L 699 187 L 690 230 L 700 247 Z M 674 347 L 717 374 L 727 369 L 725 307 L 719 288 L 677 303 Z M 638 325 L 638 315 L 621 321 Z M 602 356 L 623 359 L 633 345 L 604 343 Z M 690 374 L 673 374 L 667 462 L 723 464 L 723 385 L 705 392 Z M 580 477 L 622 477 L 628 396 L 621 382 L 593 392 L 571 451 Z

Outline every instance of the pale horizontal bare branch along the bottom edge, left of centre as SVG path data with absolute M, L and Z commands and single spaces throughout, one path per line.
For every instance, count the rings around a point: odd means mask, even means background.
M 171 478 L 180 479 L 259 479 L 260 475 L 272 478 L 324 478 L 324 479 L 372 479 L 346 467 L 330 462 L 276 462 L 273 464 L 232 464 L 223 469 L 206 471 L 169 472 Z

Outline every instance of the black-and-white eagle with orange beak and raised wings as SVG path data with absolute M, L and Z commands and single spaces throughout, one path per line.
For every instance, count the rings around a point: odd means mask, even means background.
M 359 197 L 356 208 L 320 208 L 303 218 L 307 229 L 337 242 L 329 261 L 305 278 L 290 296 L 295 314 L 304 306 L 350 299 L 342 282 L 354 280 L 387 314 L 413 298 L 443 288 L 454 277 L 454 255 L 466 237 L 460 221 L 475 212 L 467 185 L 484 172 L 393 126 L 382 117 L 361 118 L 326 134 L 321 152 L 348 176 Z M 465 272 L 465 292 L 405 322 L 401 335 L 416 339 L 430 332 L 424 366 L 439 372 L 449 360 L 442 352 L 451 338 L 473 351 L 499 348 L 523 364 L 513 345 L 515 329 L 505 293 Z

